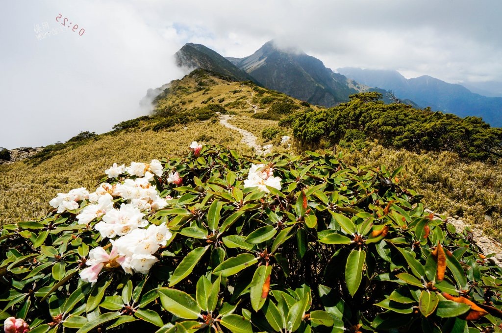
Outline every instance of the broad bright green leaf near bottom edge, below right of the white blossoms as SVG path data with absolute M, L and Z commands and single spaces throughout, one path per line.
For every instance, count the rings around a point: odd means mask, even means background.
M 197 319 L 201 308 L 189 294 L 170 288 L 159 288 L 162 307 L 185 319 Z

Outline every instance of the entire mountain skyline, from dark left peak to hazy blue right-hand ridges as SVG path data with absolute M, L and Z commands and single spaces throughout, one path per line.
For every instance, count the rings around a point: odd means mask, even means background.
M 244 58 L 224 58 L 193 43 L 183 46 L 175 56 L 178 66 L 207 69 L 235 81 L 253 81 L 313 105 L 335 106 L 348 101 L 351 94 L 371 90 L 382 93 L 386 103 L 397 97 L 414 107 L 430 106 L 461 117 L 482 117 L 492 126 L 502 127 L 502 97 L 482 96 L 462 85 L 427 75 L 406 79 L 397 71 L 350 67 L 338 68 L 335 73 L 319 59 L 298 50 L 279 48 L 274 41 Z M 496 94 L 502 84 L 476 87 L 476 91 L 484 89 Z

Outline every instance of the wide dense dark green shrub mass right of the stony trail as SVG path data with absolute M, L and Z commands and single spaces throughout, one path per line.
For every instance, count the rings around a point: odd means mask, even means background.
M 326 138 L 338 143 L 358 131 L 360 138 L 378 139 L 384 146 L 410 150 L 446 150 L 462 157 L 486 160 L 502 155 L 502 128 L 480 118 L 414 109 L 406 104 L 384 104 L 382 94 L 360 93 L 334 108 L 305 112 L 293 122 L 295 137 L 304 143 Z

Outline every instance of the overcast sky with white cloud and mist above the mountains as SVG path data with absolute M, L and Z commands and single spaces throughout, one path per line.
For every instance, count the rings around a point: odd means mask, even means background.
M 502 81 L 500 14 L 500 0 L 2 0 L 0 147 L 146 114 L 147 89 L 183 75 L 172 55 L 187 42 L 244 57 L 275 38 L 332 69 Z

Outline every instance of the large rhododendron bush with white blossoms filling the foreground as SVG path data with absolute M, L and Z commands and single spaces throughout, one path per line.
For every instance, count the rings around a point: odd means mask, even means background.
M 2 227 L 5 330 L 500 331 L 502 270 L 469 232 L 340 158 L 193 142 L 114 163 Z

